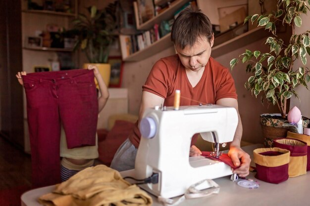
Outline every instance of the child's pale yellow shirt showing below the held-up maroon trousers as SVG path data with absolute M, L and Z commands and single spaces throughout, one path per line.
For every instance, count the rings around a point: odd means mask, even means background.
M 77 160 L 88 160 L 96 159 L 99 157 L 98 153 L 98 135 L 96 133 L 96 145 L 95 146 L 84 146 L 73 149 L 67 148 L 66 135 L 63 127 L 61 126 L 60 135 L 60 157 L 72 158 Z

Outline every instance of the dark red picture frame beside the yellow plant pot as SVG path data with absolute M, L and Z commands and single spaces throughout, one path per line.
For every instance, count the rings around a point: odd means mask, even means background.
M 107 61 L 111 65 L 109 87 L 121 87 L 124 62 L 121 56 L 110 56 Z

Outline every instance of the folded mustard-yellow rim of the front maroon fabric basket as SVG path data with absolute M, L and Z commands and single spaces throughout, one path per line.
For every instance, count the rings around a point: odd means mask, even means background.
M 281 152 L 282 154 L 277 156 L 264 156 L 259 154 L 268 151 Z M 258 148 L 253 151 L 253 159 L 254 162 L 258 165 L 275 167 L 288 164 L 290 162 L 290 154 L 290 151 L 277 147 Z

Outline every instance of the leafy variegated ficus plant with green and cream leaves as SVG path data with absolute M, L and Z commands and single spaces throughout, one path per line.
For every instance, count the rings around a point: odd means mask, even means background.
M 307 53 L 310 55 L 310 31 L 295 34 L 295 27 L 301 27 L 301 14 L 307 14 L 310 0 L 277 0 L 277 10 L 270 14 L 254 14 L 246 17 L 244 23 L 252 21 L 258 27 L 265 27 L 273 36 L 265 41 L 270 52 L 246 50 L 238 58 L 230 61 L 230 67 L 239 62 L 247 63 L 246 71 L 253 75 L 245 83 L 256 97 L 261 93 L 261 103 L 277 105 L 283 119 L 286 117 L 286 104 L 289 98 L 298 95 L 295 91 L 298 85 L 307 89 L 310 80 L 310 70 L 306 66 Z M 278 23 L 280 22 L 280 24 Z M 292 35 L 289 42 L 284 42 L 276 36 L 276 29 L 287 26 Z M 271 34 L 270 34 L 271 35 Z M 294 67 L 296 60 L 301 60 L 303 66 Z M 301 64 L 300 64 L 301 65 Z

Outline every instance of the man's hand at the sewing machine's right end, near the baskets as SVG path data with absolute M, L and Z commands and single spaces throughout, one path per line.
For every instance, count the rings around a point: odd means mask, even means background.
M 240 166 L 233 170 L 233 173 L 238 174 L 240 177 L 246 177 L 249 175 L 251 158 L 248 153 L 243 151 L 240 147 L 231 145 L 228 156 L 231 158 L 235 166 Z

